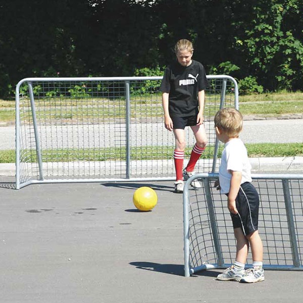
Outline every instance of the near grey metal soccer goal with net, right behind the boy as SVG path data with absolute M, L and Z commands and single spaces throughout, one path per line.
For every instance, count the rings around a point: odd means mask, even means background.
M 218 173 L 189 178 L 183 192 L 184 275 L 233 264 L 236 242 L 227 198 L 214 187 Z M 190 188 L 192 180 L 203 185 Z M 264 269 L 303 270 L 303 174 L 252 174 L 260 196 Z M 250 253 L 247 267 L 252 264 Z

